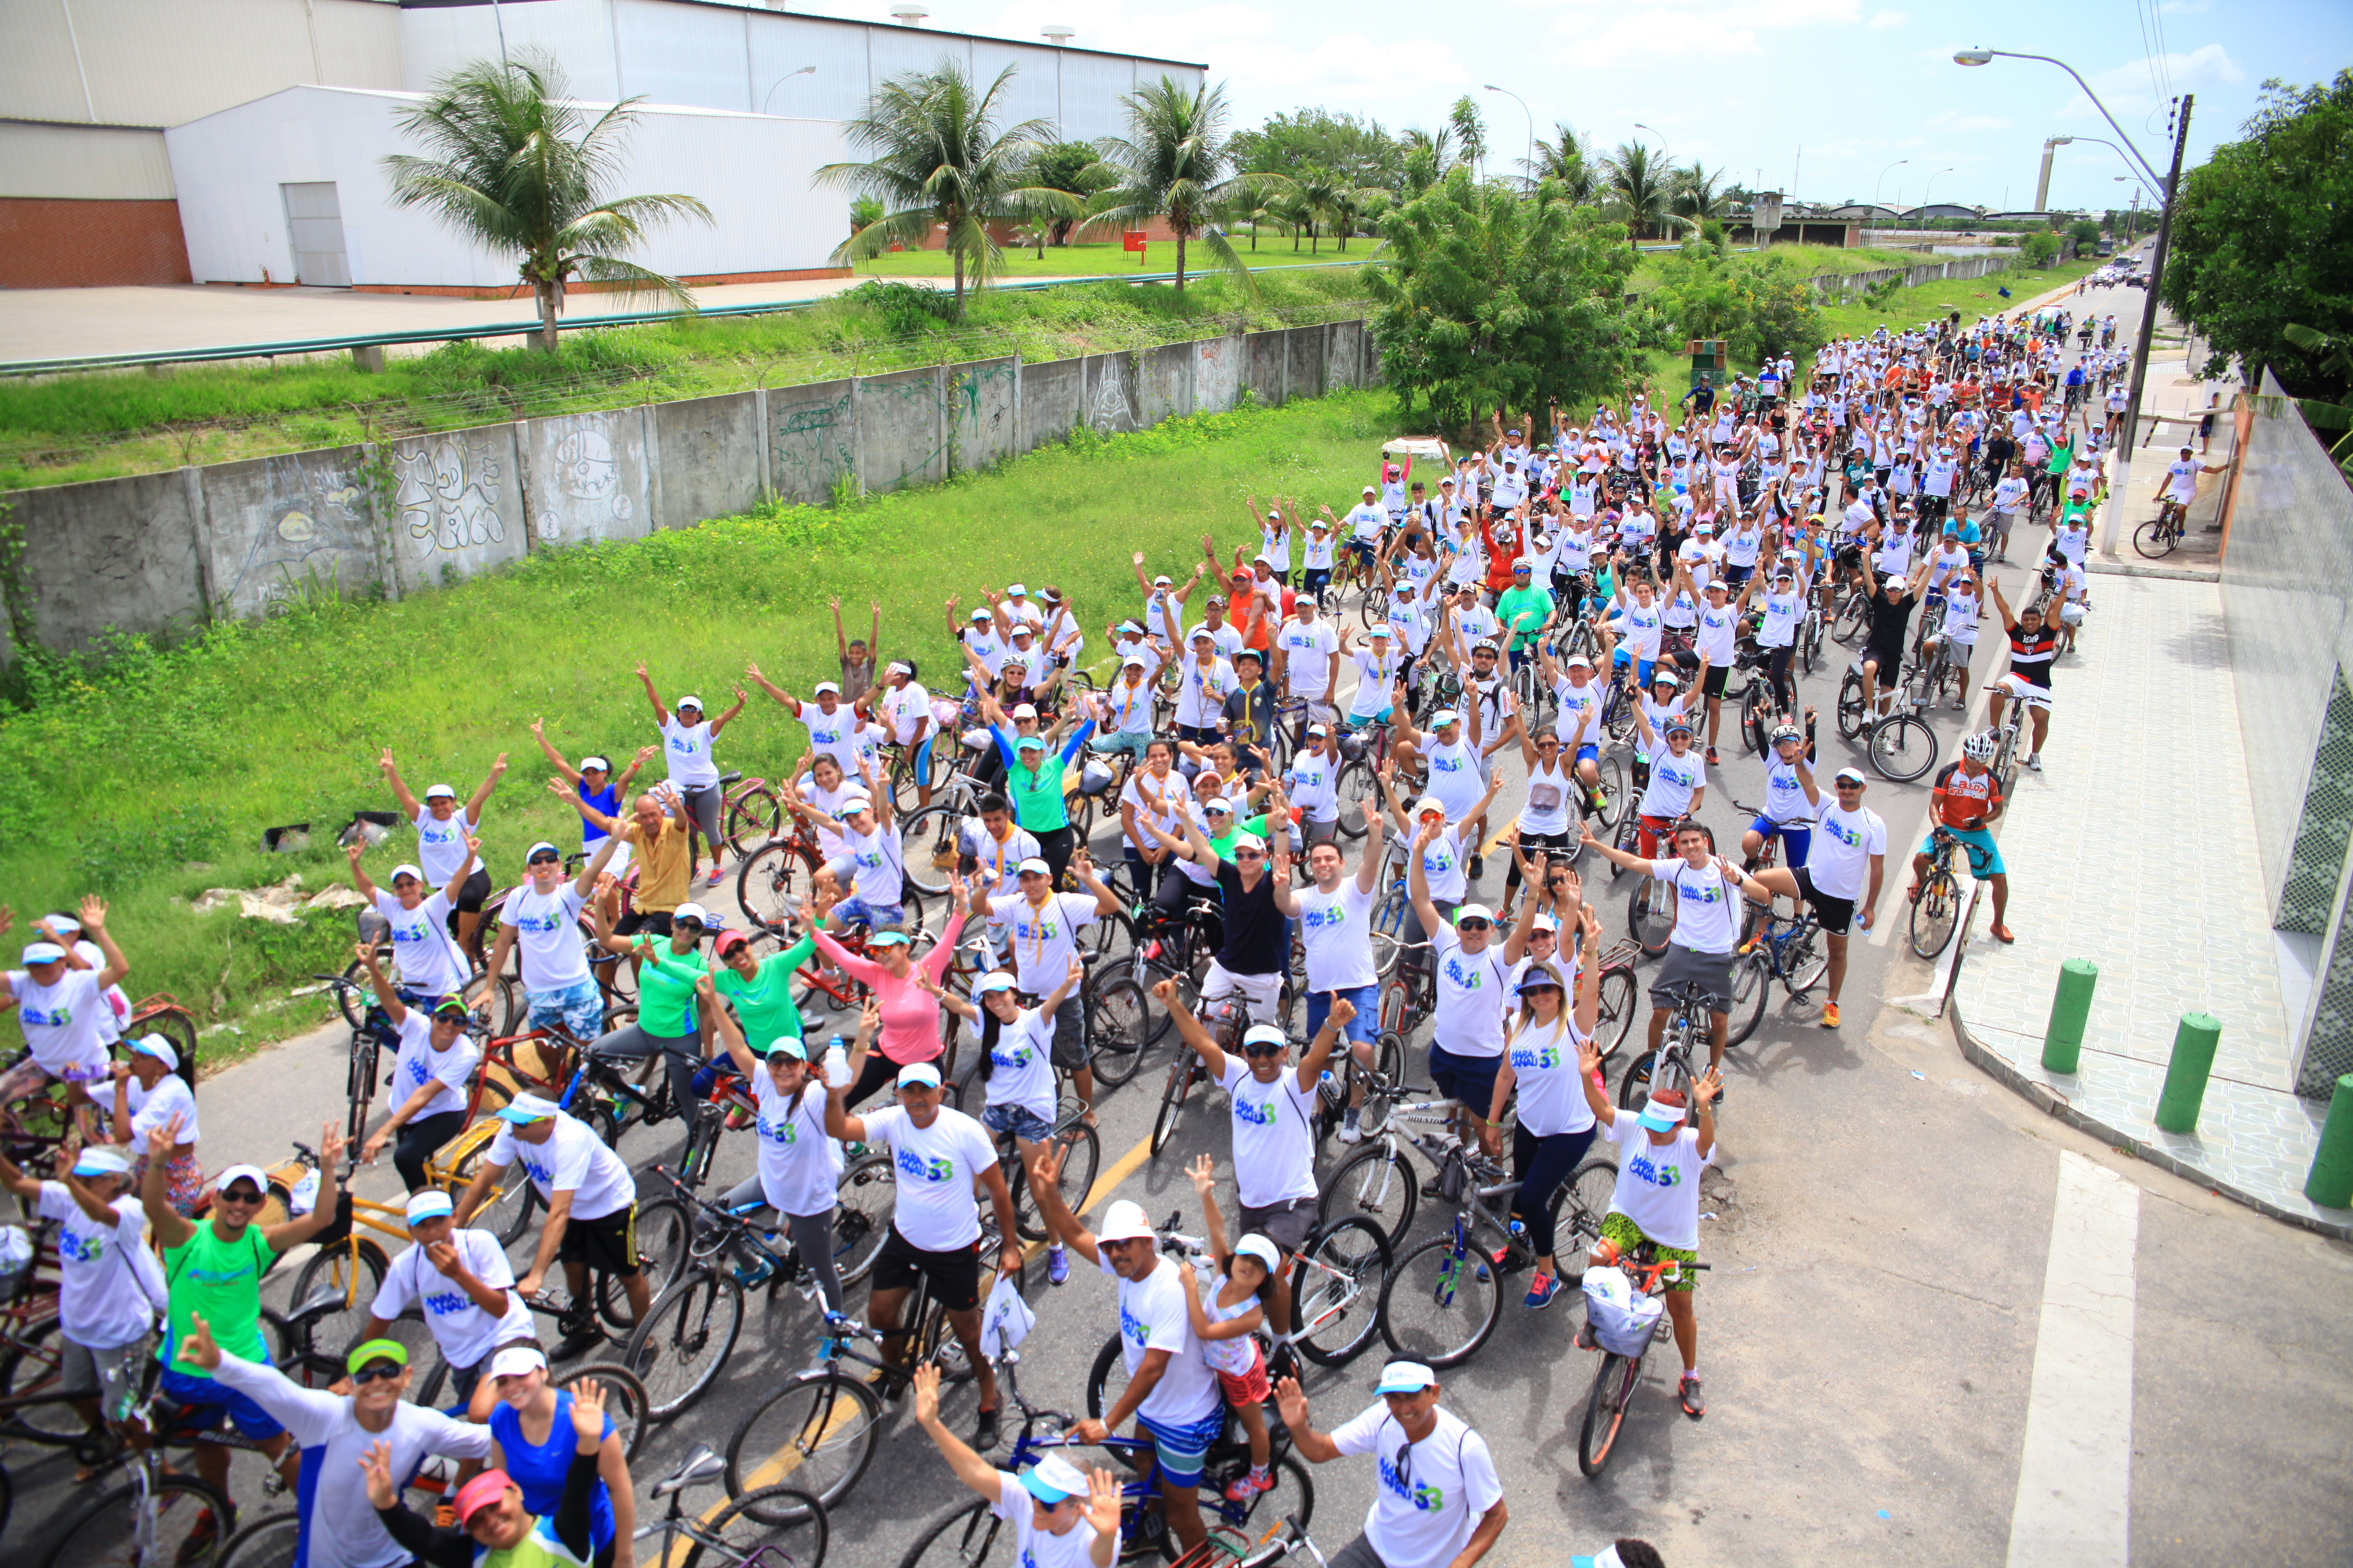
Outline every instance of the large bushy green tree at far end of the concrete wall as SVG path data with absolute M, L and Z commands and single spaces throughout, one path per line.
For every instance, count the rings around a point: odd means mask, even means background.
M 1407 421 L 1421 407 L 1457 430 L 1497 409 L 1617 395 L 1664 346 L 1647 313 L 1626 310 L 1624 230 L 1553 183 L 1518 195 L 1457 167 L 1384 228 L 1391 263 L 1365 268 L 1365 287 Z

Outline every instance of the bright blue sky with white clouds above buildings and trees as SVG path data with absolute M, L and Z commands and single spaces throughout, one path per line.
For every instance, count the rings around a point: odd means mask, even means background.
M 2028 9 L 1951 0 L 1494 0 L 1475 12 L 1409 0 L 925 0 L 929 26 L 1038 38 L 1068 24 L 1089 49 L 1207 61 L 1235 125 L 1320 106 L 1391 132 L 1435 127 L 1471 94 L 1492 167 L 1515 174 L 1534 136 L 1567 122 L 1600 150 L 1642 139 L 1725 181 L 1809 202 L 2033 202 L 2045 136 L 2115 132 L 2040 61 L 1962 68 L 1953 49 L 2049 54 L 2080 71 L 2162 174 L 2167 101 L 2195 94 L 2188 165 L 2238 136 L 2266 78 L 2325 80 L 2353 63 L 2346 0 L 2059 0 Z M 887 21 L 887 0 L 788 0 Z M 1461 16 L 1473 26 L 1433 26 Z M 1329 31 L 1334 24 L 1346 31 Z M 1527 101 L 1522 106 L 1487 85 Z M 1638 122 L 1647 129 L 1635 129 Z M 1901 160 L 1901 162 L 1899 162 Z M 2134 174 L 2118 181 L 2118 174 Z M 2106 209 L 2146 186 L 2092 141 L 2057 150 L 2052 207 Z M 2144 207 L 2148 197 L 2144 195 Z

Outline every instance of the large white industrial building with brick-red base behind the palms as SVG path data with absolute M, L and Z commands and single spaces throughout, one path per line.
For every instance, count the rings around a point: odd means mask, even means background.
M 880 0 L 878 0 L 880 7 Z M 398 115 L 482 59 L 553 59 L 584 103 L 642 99 L 628 193 L 685 193 L 713 223 L 633 259 L 689 282 L 831 275 L 849 197 L 842 120 L 885 78 L 1012 66 L 1005 122 L 1092 141 L 1120 96 L 1207 66 L 729 0 L 0 0 L 0 287 L 327 284 L 506 292 L 513 261 L 386 200 Z

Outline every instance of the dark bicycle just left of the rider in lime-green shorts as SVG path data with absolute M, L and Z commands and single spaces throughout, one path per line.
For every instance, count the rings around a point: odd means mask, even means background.
M 1504 1314 L 1504 1279 L 1534 1267 L 1537 1253 L 1527 1227 L 1511 1218 L 1520 1182 L 1504 1180 L 1501 1164 L 1459 1143 L 1424 1152 L 1438 1161 L 1435 1197 L 1454 1204 L 1454 1215 L 1442 1234 L 1398 1258 L 1381 1281 L 1381 1340 L 1407 1361 L 1461 1366 L 1478 1354 Z M 1581 1161 L 1553 1190 L 1553 1234 L 1560 1239 L 1555 1262 L 1581 1258 L 1600 1239 L 1614 1192 L 1617 1166 L 1607 1159 Z M 1494 1232 L 1501 1248 L 1487 1251 L 1478 1241 L 1482 1229 Z

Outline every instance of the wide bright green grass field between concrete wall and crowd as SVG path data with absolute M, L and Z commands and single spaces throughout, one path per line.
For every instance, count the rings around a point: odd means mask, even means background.
M 626 545 L 551 550 L 456 588 L 398 604 L 308 604 L 264 623 L 221 623 L 158 649 L 120 644 L 111 661 L 35 672 L 35 705 L 0 717 L 0 886 L 24 919 L 85 891 L 115 900 L 134 997 L 172 990 L 200 1020 L 252 1039 L 325 1018 L 287 987 L 348 961 L 348 912 L 268 926 L 221 910 L 193 914 L 207 886 L 256 886 L 301 872 L 308 889 L 344 877 L 332 835 L 355 809 L 391 809 L 376 755 L 391 745 L 412 788 L 471 792 L 492 757 L 511 773 L 485 816 L 494 879 L 520 875 L 534 839 L 576 842 L 579 818 L 546 792 L 534 715 L 567 755 L 626 755 L 652 738 L 645 658 L 661 691 L 732 701 L 744 663 L 807 691 L 833 672 L 828 595 L 864 623 L 880 599 L 885 656 L 913 656 L 941 686 L 951 644 L 941 599 L 969 604 L 1019 574 L 1056 583 L 1089 628 L 1136 607 L 1129 550 L 1155 571 L 1198 559 L 1212 529 L 1235 541 L 1240 501 L 1297 494 L 1339 503 L 1393 433 L 1386 393 L 1344 393 L 1287 409 L 1240 409 L 1115 440 L 1080 437 L 984 475 L 840 510 L 772 508 Z M 1151 505 L 1136 505 L 1151 496 Z M 1016 531 L 1007 520 L 1019 517 Z M 1089 635 L 1099 656 L 1101 632 Z M 805 731 L 767 696 L 720 738 L 729 769 L 774 776 Z M 61 811 L 59 802 L 73 802 Z M 261 830 L 313 825 L 315 849 L 264 856 Z M 381 882 L 414 844 L 369 856 Z M 233 1037 L 214 1034 L 207 1056 Z

